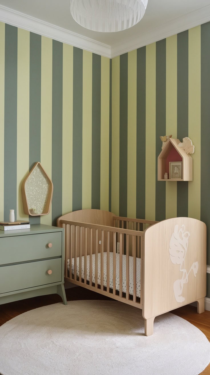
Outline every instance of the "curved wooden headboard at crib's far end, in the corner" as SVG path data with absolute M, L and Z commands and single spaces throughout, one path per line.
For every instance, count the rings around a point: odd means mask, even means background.
M 59 217 L 57 220 L 57 226 L 60 226 L 60 220 L 113 226 L 113 216 L 115 216 L 115 214 L 109 211 L 95 209 L 78 210 Z

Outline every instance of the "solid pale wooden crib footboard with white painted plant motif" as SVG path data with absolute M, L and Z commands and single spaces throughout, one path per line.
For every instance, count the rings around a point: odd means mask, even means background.
M 157 315 L 198 302 L 206 296 L 206 224 L 177 217 L 144 232 L 142 298 L 146 335 Z

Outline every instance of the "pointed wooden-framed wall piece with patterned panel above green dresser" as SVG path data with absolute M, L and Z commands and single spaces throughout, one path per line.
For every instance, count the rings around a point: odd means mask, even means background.
M 52 202 L 53 184 L 40 162 L 34 164 L 22 183 L 24 212 L 31 216 L 47 215 Z

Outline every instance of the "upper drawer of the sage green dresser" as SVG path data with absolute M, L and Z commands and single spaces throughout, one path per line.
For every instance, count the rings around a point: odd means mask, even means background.
M 51 246 L 52 245 L 52 246 Z M 49 247 L 51 246 L 51 247 Z M 0 238 L 0 264 L 62 255 L 62 232 Z

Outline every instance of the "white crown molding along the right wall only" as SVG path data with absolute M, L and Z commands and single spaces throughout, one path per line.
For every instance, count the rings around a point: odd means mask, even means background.
M 138 35 L 135 38 L 124 40 L 123 43 L 115 45 L 111 48 L 111 58 L 157 42 L 158 40 L 165 39 L 168 36 L 181 33 L 182 31 L 188 30 L 208 21 L 210 21 L 210 5 L 175 18 L 174 20 L 168 21 L 161 26 L 153 29 L 151 28 L 151 30 L 149 30 L 147 33 Z

